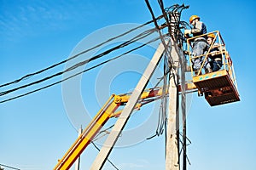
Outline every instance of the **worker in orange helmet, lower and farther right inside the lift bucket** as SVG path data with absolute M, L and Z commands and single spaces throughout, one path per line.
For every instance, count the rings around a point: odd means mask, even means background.
M 209 54 L 207 54 L 206 72 L 218 71 L 222 67 L 222 54 L 218 54 L 219 44 L 215 42 L 215 35 L 210 33 L 207 35 L 207 43 Z

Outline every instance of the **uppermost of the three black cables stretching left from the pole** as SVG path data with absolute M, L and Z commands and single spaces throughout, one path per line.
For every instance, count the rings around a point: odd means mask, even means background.
M 163 16 L 160 15 L 156 20 L 160 20 L 162 17 L 163 17 Z M 38 75 L 38 74 L 44 72 L 44 71 L 48 71 L 49 69 L 52 69 L 52 68 L 54 68 L 54 67 L 57 66 L 57 65 L 64 64 L 64 63 L 66 63 L 68 60 L 75 59 L 76 57 L 78 57 L 78 56 L 81 55 L 81 54 L 88 53 L 88 52 L 91 51 L 92 49 L 101 47 L 103 44 L 105 44 L 105 43 L 107 43 L 107 42 L 111 42 L 111 41 L 113 41 L 114 39 L 117 39 L 117 38 L 119 38 L 119 37 L 123 37 L 123 36 L 125 36 L 125 35 L 131 33 L 132 31 L 136 31 L 137 29 L 142 28 L 143 26 L 147 26 L 148 24 L 150 24 L 150 23 L 152 23 L 152 22 L 153 22 L 153 20 L 150 20 L 150 21 L 144 23 L 143 25 L 140 25 L 140 26 L 137 26 L 137 27 L 135 27 L 135 28 L 132 28 L 131 30 L 126 31 L 126 32 L 124 32 L 123 34 L 120 34 L 120 35 L 117 36 L 117 37 L 112 37 L 112 38 L 108 39 L 107 41 L 102 42 L 102 43 L 100 43 L 100 44 L 94 46 L 93 48 L 88 48 L 88 49 L 86 49 L 86 50 L 80 52 L 79 54 L 75 54 L 75 55 L 73 55 L 72 57 L 70 57 L 70 58 L 68 58 L 68 59 L 65 59 L 65 60 L 62 60 L 62 61 L 59 62 L 59 63 L 56 63 L 55 65 L 50 65 L 49 67 L 46 67 L 46 68 L 44 68 L 44 69 L 42 69 L 42 70 L 40 70 L 40 71 L 36 71 L 36 72 L 30 73 L 30 74 L 27 74 L 26 76 L 20 77 L 19 79 L 16 79 L 15 81 L 4 83 L 4 84 L 0 85 L 0 88 L 3 88 L 3 87 L 5 87 L 5 86 L 9 86 L 10 84 L 14 84 L 14 83 L 20 82 L 20 81 L 22 81 L 22 80 L 26 80 L 26 79 L 28 79 L 28 78 L 30 78 L 30 77 L 32 77 L 32 76 L 35 76 L 35 75 Z

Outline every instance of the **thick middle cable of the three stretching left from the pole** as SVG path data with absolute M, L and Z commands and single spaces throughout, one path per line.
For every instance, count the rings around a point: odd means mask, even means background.
M 61 76 L 62 74 L 64 74 L 64 73 L 67 72 L 67 71 L 72 71 L 72 70 L 78 68 L 79 66 L 83 66 L 83 65 L 85 65 L 85 64 L 87 64 L 87 63 L 89 63 L 89 62 L 91 62 L 92 60 L 99 59 L 99 58 L 101 58 L 101 57 L 104 56 L 104 55 L 110 54 L 110 53 L 113 52 L 114 50 L 117 50 L 117 49 L 119 49 L 119 48 L 124 48 L 125 46 L 130 45 L 130 44 L 133 43 L 133 42 L 137 42 L 138 40 L 143 39 L 144 37 L 148 37 L 150 34 L 154 33 L 154 30 L 155 30 L 155 29 L 150 29 L 150 30 L 148 30 L 148 31 L 144 31 L 143 33 L 137 35 L 136 37 L 131 38 L 131 40 L 126 41 L 126 42 L 123 42 L 123 43 L 121 43 L 121 44 L 119 44 L 118 46 L 115 46 L 115 47 L 113 47 L 113 48 L 110 48 L 110 49 L 108 49 L 107 51 L 102 52 L 102 54 L 97 54 L 96 56 L 94 56 L 94 57 L 92 57 L 92 58 L 90 58 L 90 59 L 85 59 L 84 61 L 81 61 L 81 62 L 79 62 L 78 64 L 73 65 L 73 66 L 67 68 L 65 71 L 60 71 L 60 72 L 58 72 L 58 73 L 55 73 L 54 75 L 51 75 L 51 76 L 49 76 L 49 77 L 44 77 L 43 79 L 40 79 L 40 80 L 35 81 L 35 82 L 28 83 L 28 84 L 23 85 L 23 86 L 20 86 L 20 87 L 18 87 L 18 88 L 13 88 L 13 89 L 10 89 L 10 90 L 6 90 L 6 91 L 3 91 L 3 92 L 0 92 L 0 96 L 3 96 L 3 95 L 5 95 L 5 94 L 9 94 L 9 93 L 15 92 L 16 90 L 19 90 L 19 89 L 21 89 L 21 88 L 27 88 L 27 87 L 32 86 L 32 85 L 34 85 L 34 84 L 38 84 L 38 83 L 40 83 L 40 82 L 44 82 L 44 81 L 49 80 L 49 79 L 51 79 L 51 78 L 53 78 L 53 77 Z

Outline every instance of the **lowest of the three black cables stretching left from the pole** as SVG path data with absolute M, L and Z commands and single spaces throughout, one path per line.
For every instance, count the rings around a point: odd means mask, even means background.
M 158 39 L 159 39 L 159 37 L 154 38 L 153 40 L 148 41 L 148 42 L 144 43 L 143 45 L 138 46 L 137 48 L 133 48 L 133 49 L 131 49 L 130 51 L 127 51 L 127 52 L 124 53 L 124 54 L 120 54 L 119 56 L 114 57 L 113 59 L 118 59 L 118 58 L 124 56 L 125 54 L 129 54 L 129 53 L 131 53 L 132 51 L 137 50 L 138 48 L 142 48 L 143 46 L 147 45 L 148 43 L 157 41 Z M 37 88 L 37 89 L 35 89 L 35 90 L 32 90 L 32 91 L 30 91 L 30 92 L 27 92 L 26 94 L 20 94 L 20 95 L 17 95 L 17 96 L 15 96 L 15 97 L 12 97 L 12 98 L 9 98 L 9 99 L 1 100 L 0 103 L 5 103 L 5 102 L 10 101 L 10 100 L 13 100 L 13 99 L 18 99 L 18 98 L 24 97 L 24 96 L 26 96 L 26 95 L 28 95 L 28 94 L 33 94 L 33 93 L 35 93 L 35 92 L 38 92 L 38 91 L 40 91 L 40 90 L 43 90 L 44 88 L 49 88 L 49 87 L 52 87 L 52 86 L 54 86 L 54 85 L 56 85 L 56 84 L 58 84 L 58 83 L 65 82 L 65 81 L 67 81 L 67 80 L 70 79 L 70 78 L 76 77 L 76 76 L 78 76 L 78 75 L 80 75 L 80 74 L 82 74 L 82 73 L 84 73 L 84 72 L 86 72 L 86 71 L 90 71 L 90 70 L 92 70 L 92 69 L 94 69 L 94 68 L 96 68 L 96 67 L 98 67 L 98 66 L 100 66 L 100 65 L 106 64 L 106 63 L 108 63 L 109 61 L 112 61 L 113 59 L 108 59 L 108 60 L 106 60 L 106 61 L 104 61 L 104 62 L 102 62 L 102 63 L 100 63 L 100 64 L 98 64 L 98 65 L 92 66 L 92 67 L 90 67 L 90 68 L 88 68 L 88 69 L 86 69 L 86 70 L 84 70 L 84 71 L 80 71 L 80 72 L 74 74 L 73 76 L 67 77 L 67 78 L 65 78 L 65 79 L 63 79 L 63 80 L 61 80 L 61 81 L 54 82 L 54 83 L 51 83 L 51 84 L 49 84 L 49 85 L 47 85 L 47 86 L 44 86 L 43 88 Z

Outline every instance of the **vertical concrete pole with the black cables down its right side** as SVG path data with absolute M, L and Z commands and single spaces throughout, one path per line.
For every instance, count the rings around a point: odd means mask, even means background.
M 185 125 L 185 67 L 184 56 L 181 50 L 182 42 L 177 42 L 177 29 L 178 21 L 180 20 L 180 14 L 172 12 L 169 14 L 171 20 L 171 56 L 170 57 L 170 78 L 169 78 L 169 107 L 167 115 L 167 129 L 166 129 L 166 170 L 179 170 L 180 156 L 179 156 L 179 112 L 182 112 L 183 118 L 183 154 L 186 155 L 185 141 L 186 137 L 186 125 Z M 179 44 L 178 44 L 179 43 Z M 180 69 L 179 69 L 180 68 Z M 182 107 L 179 105 L 178 89 L 177 85 L 181 83 L 182 87 Z M 186 170 L 186 158 L 183 156 L 183 170 Z

